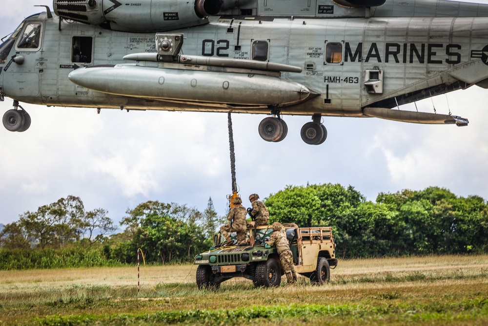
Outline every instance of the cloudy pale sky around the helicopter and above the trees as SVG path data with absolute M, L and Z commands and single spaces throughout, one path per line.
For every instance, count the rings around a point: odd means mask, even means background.
M 3 3 L 0 37 L 42 11 L 35 4 L 52 8 L 41 0 Z M 429 186 L 488 199 L 487 100 L 488 89 L 475 86 L 417 102 L 424 112 L 450 109 L 469 119 L 467 127 L 323 117 L 328 137 L 319 146 L 300 137 L 310 117 L 285 116 L 287 137 L 268 143 L 258 134 L 265 115 L 233 114 L 244 207 L 252 193 L 264 198 L 307 183 L 351 185 L 373 202 L 380 192 Z M 115 221 L 147 200 L 203 211 L 211 197 L 217 213 L 226 213 L 232 193 L 227 114 L 21 106 L 31 116 L 29 130 L 0 128 L 0 223 L 69 195 Z M 1 114 L 11 107 L 5 98 Z

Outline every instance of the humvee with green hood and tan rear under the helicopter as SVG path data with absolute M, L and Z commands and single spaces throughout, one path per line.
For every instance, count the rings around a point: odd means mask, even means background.
M 195 257 L 198 265 L 196 281 L 199 289 L 218 288 L 234 277 L 252 280 L 254 286 L 278 286 L 283 271 L 276 247 L 265 248 L 273 229 L 271 225 L 254 227 L 247 222 L 248 245 L 236 245 L 237 235 L 230 233 L 228 241 L 218 233 L 214 246 Z M 299 228 L 294 223 L 283 224 L 295 271 L 314 284 L 330 280 L 330 267 L 337 266 L 335 243 L 331 227 Z

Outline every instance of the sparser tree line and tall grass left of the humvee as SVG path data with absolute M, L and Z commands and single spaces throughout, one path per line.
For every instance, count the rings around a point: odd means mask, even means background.
M 145 261 L 192 261 L 208 250 L 223 222 L 209 198 L 207 208 L 147 201 L 127 209 L 123 232 L 102 208 L 85 211 L 79 197 L 68 196 L 36 212 L 25 212 L 0 232 L 0 269 L 76 267 Z

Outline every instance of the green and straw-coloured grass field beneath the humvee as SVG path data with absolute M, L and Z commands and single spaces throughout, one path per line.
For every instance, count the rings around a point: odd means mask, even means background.
M 0 271 L 0 325 L 488 325 L 488 255 L 339 261 L 325 286 L 195 271 L 141 266 L 140 293 L 137 267 Z

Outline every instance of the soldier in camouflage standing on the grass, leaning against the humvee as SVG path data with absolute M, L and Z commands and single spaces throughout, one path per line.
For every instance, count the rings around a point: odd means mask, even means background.
M 285 272 L 286 280 L 290 284 L 296 283 L 297 273 L 295 273 L 295 265 L 293 265 L 293 254 L 290 251 L 288 239 L 286 239 L 285 227 L 280 222 L 274 222 L 273 231 L 264 247 L 270 248 L 276 245 L 276 250 L 280 255 L 281 268 Z

